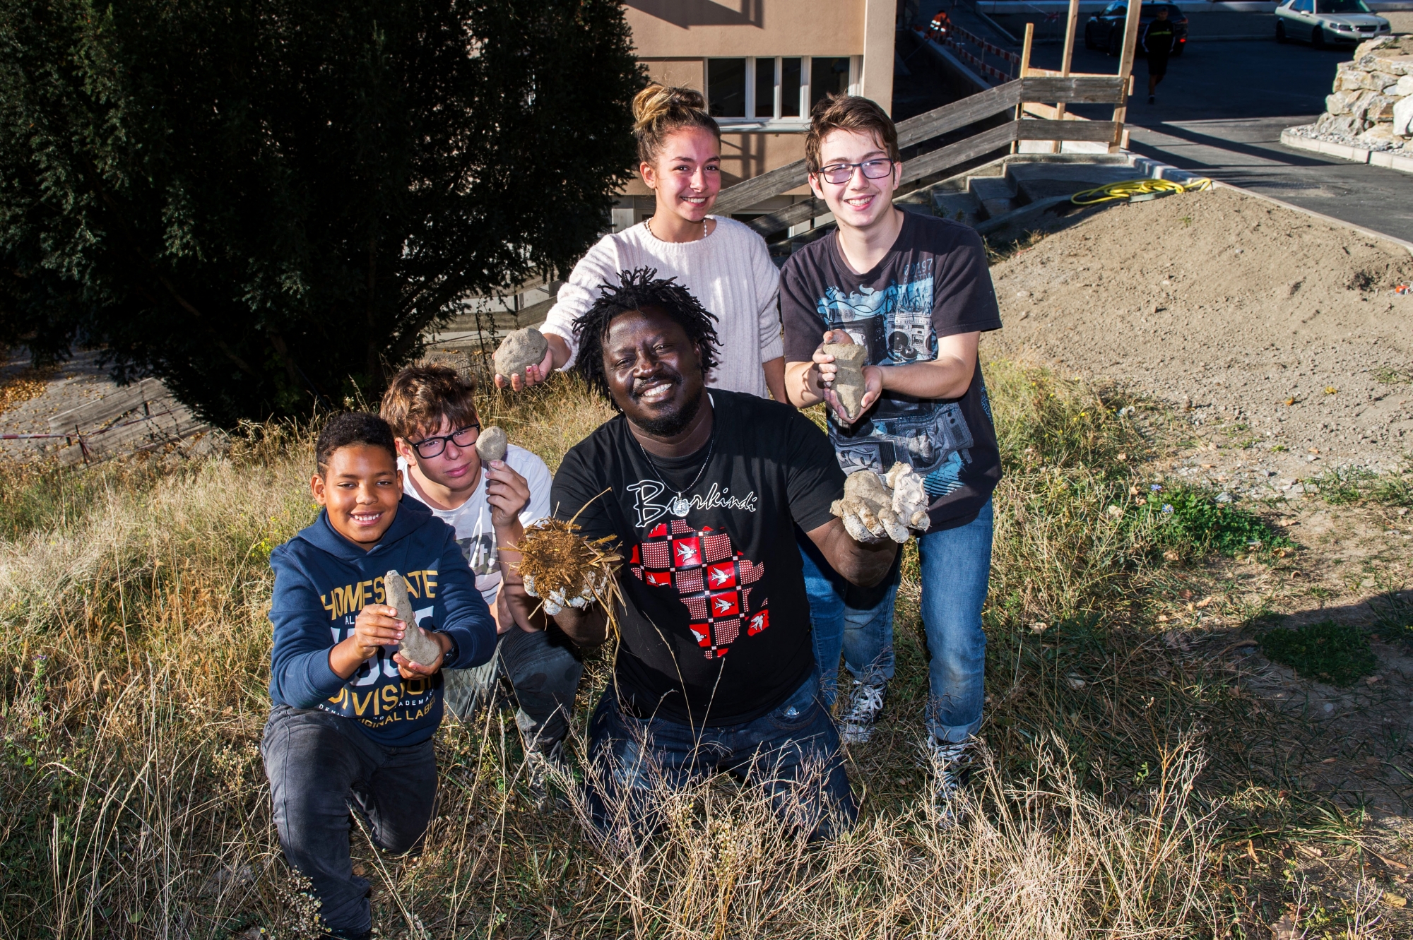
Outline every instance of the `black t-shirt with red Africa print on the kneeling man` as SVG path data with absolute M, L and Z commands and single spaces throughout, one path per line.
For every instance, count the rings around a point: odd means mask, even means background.
M 773 710 L 814 669 L 794 526 L 832 518 L 844 471 L 794 408 L 721 388 L 711 399 L 714 440 L 687 457 L 649 463 L 623 415 L 603 423 L 565 454 L 550 504 L 578 514 L 588 538 L 619 541 L 623 707 L 729 725 Z

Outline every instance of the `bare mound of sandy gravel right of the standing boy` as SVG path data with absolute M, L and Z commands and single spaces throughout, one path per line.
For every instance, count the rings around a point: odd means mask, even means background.
M 1289 497 L 1325 467 L 1386 471 L 1413 450 L 1397 244 L 1221 188 L 1115 205 L 992 277 L 1006 327 L 988 351 L 1174 408 L 1195 445 L 1180 476 Z

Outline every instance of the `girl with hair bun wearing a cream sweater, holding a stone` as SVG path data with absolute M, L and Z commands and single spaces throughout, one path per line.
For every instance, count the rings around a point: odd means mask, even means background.
M 601 285 L 620 271 L 657 268 L 677 278 L 716 315 L 721 364 L 708 385 L 780 402 L 786 398 L 780 340 L 780 272 L 766 241 L 733 219 L 712 216 L 721 192 L 721 128 L 701 92 L 651 83 L 633 99 L 639 174 L 657 196 L 657 212 L 636 226 L 603 236 L 574 265 L 540 332 L 550 350 L 526 377 L 496 375 L 516 391 L 574 366 L 579 340 L 574 320 L 593 305 Z

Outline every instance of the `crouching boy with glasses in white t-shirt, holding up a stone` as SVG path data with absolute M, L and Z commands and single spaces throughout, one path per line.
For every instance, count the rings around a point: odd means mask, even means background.
M 524 526 L 550 515 L 550 469 L 510 445 L 504 460 L 482 464 L 475 382 L 445 366 L 410 366 L 383 395 L 404 491 L 456 529 L 500 634 L 495 658 L 475 669 L 447 669 L 447 707 L 468 717 L 506 682 L 530 761 L 531 789 L 543 796 L 544 762 L 560 762 L 584 672 L 579 649 L 538 611 L 514 563 Z

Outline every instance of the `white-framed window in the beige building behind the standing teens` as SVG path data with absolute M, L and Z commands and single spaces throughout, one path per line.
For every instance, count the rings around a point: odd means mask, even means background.
M 831 92 L 858 93 L 859 56 L 706 59 L 706 107 L 726 123 L 801 123 Z

